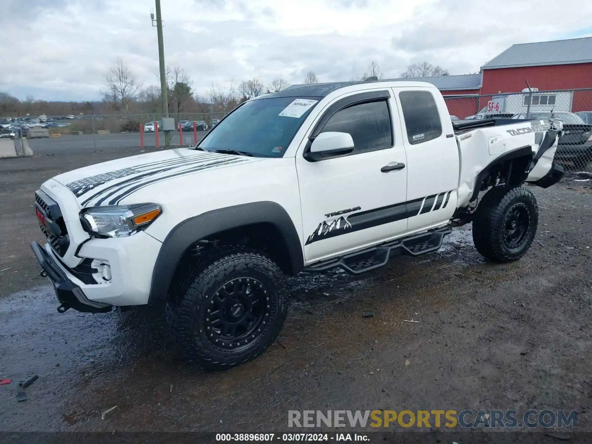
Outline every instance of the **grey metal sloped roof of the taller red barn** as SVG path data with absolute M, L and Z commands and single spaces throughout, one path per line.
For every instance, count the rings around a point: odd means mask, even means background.
M 592 37 L 519 43 L 510 46 L 481 69 L 592 63 Z

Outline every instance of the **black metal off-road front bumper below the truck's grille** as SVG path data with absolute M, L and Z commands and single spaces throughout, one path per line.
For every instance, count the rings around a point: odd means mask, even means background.
M 31 243 L 33 254 L 43 268 L 41 276 L 47 276 L 52 281 L 57 300 L 60 302 L 57 311 L 64 313 L 69 308 L 83 313 L 108 313 L 112 305 L 89 301 L 78 285 L 74 284 L 62 271 L 55 259 L 49 255 L 37 242 Z

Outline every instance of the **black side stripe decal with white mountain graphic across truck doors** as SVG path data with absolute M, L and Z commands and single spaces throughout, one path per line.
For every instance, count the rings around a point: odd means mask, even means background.
M 451 191 L 448 192 L 448 196 L 450 196 L 450 193 Z M 439 198 L 440 202 L 445 194 L 441 194 L 442 198 Z M 417 216 L 420 214 L 420 208 L 422 208 L 422 202 L 424 200 L 426 200 L 426 204 L 423 206 L 425 211 L 422 210 L 422 214 L 427 213 L 432 208 L 435 199 L 436 194 L 427 198 L 420 197 L 419 199 L 388 205 L 387 207 L 359 211 L 358 213 L 350 214 L 347 218 L 341 216 L 329 222 L 323 221 L 318 224 L 313 234 L 308 236 L 304 244 L 308 245 L 317 242 L 317 240 L 329 239 L 330 237 L 340 236 L 341 234 L 353 233 L 353 231 L 365 230 Z M 446 203 L 448 203 L 448 199 Z

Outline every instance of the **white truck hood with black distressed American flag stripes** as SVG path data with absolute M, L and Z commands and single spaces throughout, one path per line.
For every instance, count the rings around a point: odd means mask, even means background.
M 260 160 L 262 157 L 179 148 L 86 166 L 60 174 L 54 180 L 69 188 L 81 207 L 117 205 L 137 190 L 157 182 Z

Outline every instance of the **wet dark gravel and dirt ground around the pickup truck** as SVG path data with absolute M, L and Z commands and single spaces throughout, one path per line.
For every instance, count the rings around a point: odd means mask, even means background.
M 578 432 L 592 432 L 590 182 L 530 188 L 539 230 L 515 263 L 485 262 L 465 226 L 439 252 L 367 275 L 292 278 L 278 342 L 256 361 L 208 373 L 179 359 L 155 308 L 58 314 L 28 247 L 41 240 L 33 213 L 41 182 L 135 152 L 0 161 L 0 378 L 13 379 L 0 386 L 0 430 L 278 432 L 288 410 L 549 408 L 577 410 Z M 28 374 L 40 378 L 17 402 L 15 381 Z M 404 440 L 452 442 L 432 429 Z M 479 427 L 455 439 L 592 442 L 535 430 Z

